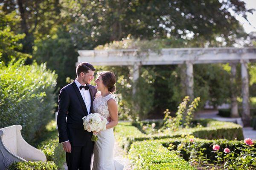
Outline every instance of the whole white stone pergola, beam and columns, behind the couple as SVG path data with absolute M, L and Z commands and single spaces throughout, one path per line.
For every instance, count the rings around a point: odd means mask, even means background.
M 96 66 L 133 66 L 133 81 L 140 76 L 140 66 L 186 64 L 186 92 L 191 98 L 193 93 L 193 64 L 230 63 L 231 82 L 235 81 L 236 64 L 241 63 L 242 78 L 242 119 L 244 125 L 250 124 L 249 80 L 247 63 L 256 61 L 256 48 L 172 48 L 162 49 L 159 53 L 142 52 L 137 49 L 119 50 L 79 50 L 78 63 L 89 62 Z M 231 88 L 231 91 L 232 88 Z M 136 88 L 133 88 L 133 93 Z M 232 92 L 231 114 L 238 117 L 236 94 Z

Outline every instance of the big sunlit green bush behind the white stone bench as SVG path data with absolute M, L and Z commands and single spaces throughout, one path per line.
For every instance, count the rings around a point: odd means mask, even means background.
M 23 137 L 33 142 L 52 118 L 56 78 L 45 64 L 0 63 L 0 128 L 20 124 Z

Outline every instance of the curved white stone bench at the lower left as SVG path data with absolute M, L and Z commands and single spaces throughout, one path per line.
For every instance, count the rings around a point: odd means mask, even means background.
M 21 129 L 20 125 L 0 129 L 0 170 L 14 161 L 46 161 L 44 153 L 23 139 Z

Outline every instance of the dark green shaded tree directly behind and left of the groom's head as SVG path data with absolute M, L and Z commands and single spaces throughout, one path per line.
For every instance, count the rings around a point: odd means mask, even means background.
M 58 74 L 57 89 L 67 85 L 67 77 L 76 77 L 77 56 L 70 34 L 61 27 L 54 36 L 37 40 L 33 51 L 33 57 L 38 63 L 47 62 L 47 68 Z

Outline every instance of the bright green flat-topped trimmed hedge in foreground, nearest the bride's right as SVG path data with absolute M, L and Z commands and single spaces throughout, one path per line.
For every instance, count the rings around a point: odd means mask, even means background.
M 134 142 L 128 156 L 136 170 L 195 170 L 175 152 L 156 141 Z

